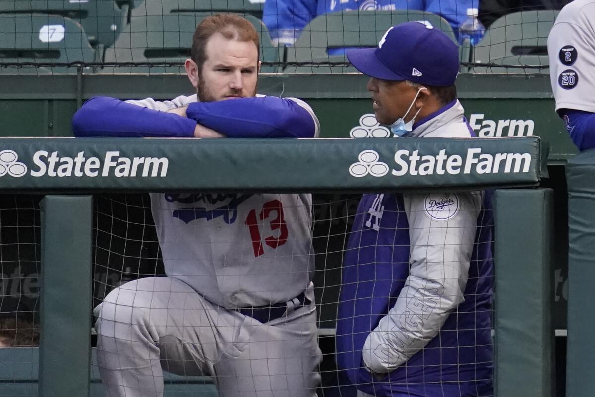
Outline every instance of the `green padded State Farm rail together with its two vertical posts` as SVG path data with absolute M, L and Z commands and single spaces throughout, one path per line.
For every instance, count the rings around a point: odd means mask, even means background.
M 156 144 L 158 142 L 158 145 Z M 534 187 L 547 176 L 546 154 L 537 137 L 515 139 L 186 140 L 2 139 L 24 167 L 2 177 L 4 192 L 51 192 L 42 207 L 42 340 L 39 395 L 89 395 L 89 312 L 92 260 L 89 195 L 73 193 L 171 190 L 250 192 L 369 192 L 432 189 Z M 462 160 L 459 172 L 425 176 L 394 163 L 396 151 L 438 155 L 444 149 Z M 377 152 L 392 170 L 382 177 L 353 176 L 364 151 Z M 53 154 L 55 152 L 55 155 Z M 76 158 L 68 169 L 48 159 Z M 502 167 L 478 168 L 480 154 Z M 99 165 L 87 165 L 96 158 Z M 154 159 L 137 173 L 119 158 Z M 219 168 L 211 167 L 225 158 Z M 329 162 L 328 158 L 333 161 Z M 57 160 L 60 162 L 60 160 Z M 57 164 L 54 162 L 54 164 Z M 65 161 L 68 163 L 69 161 Z M 132 161 L 134 162 L 134 161 Z M 492 162 L 493 164 L 493 162 Z M 23 167 L 18 170 L 23 170 Z M 205 169 L 209 173 L 191 170 Z M 16 168 L 13 174 L 17 174 Z M 61 193 L 67 193 L 62 196 Z M 499 396 L 552 395 L 553 337 L 550 264 L 551 192 L 505 189 L 496 193 L 496 368 Z M 512 233 L 520 226 L 525 233 Z M 60 228 L 57 235 L 55 228 Z M 76 247 L 76 249 L 73 249 Z M 530 250 L 528 250 L 530 248 Z M 521 250 L 519 252 L 518 250 Z M 530 252 L 529 252 L 530 251 Z M 536 254 L 537 255 L 531 255 Z M 501 264 L 501 265 L 500 265 Z M 502 266 L 502 267 L 500 267 Z M 502 269 L 502 270 L 500 270 Z M 532 285 L 527 290 L 524 285 Z M 502 298 L 500 298 L 502 296 Z M 76 299 L 73 299 L 76 297 Z M 518 305 L 518 302 L 525 305 Z M 76 382 L 71 382 L 76 379 Z M 536 386 L 537 385 L 537 386 Z M 512 393 L 512 394 L 511 394 Z

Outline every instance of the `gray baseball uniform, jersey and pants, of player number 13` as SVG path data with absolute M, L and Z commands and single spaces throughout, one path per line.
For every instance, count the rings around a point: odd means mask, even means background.
M 318 136 L 312 110 L 293 100 L 310 112 Z M 165 111 L 194 101 L 129 102 Z M 222 397 L 315 396 L 322 353 L 311 205 L 308 194 L 151 193 L 169 277 L 126 283 L 96 308 L 107 395 L 162 397 L 163 368 L 212 376 Z M 301 292 L 311 304 L 292 302 Z M 286 302 L 285 314 L 265 323 L 226 310 L 277 302 Z

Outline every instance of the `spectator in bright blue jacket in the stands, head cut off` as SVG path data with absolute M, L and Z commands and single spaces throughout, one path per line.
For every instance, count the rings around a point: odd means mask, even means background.
M 479 0 L 267 0 L 262 21 L 278 45 L 293 45 L 303 28 L 318 15 L 354 10 L 417 10 L 440 15 L 455 34 Z

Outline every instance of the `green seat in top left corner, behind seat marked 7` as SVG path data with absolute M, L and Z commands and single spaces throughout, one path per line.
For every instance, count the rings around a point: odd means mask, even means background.
M 126 25 L 131 0 L 0 0 L 0 14 L 46 14 L 78 21 L 92 46 L 109 46 Z

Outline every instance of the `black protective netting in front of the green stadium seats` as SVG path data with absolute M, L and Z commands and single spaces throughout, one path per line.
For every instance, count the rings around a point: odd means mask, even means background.
M 255 27 L 262 73 L 354 73 L 345 49 L 373 48 L 406 21 L 457 43 L 462 73 L 547 73 L 547 36 L 567 2 L 0 0 L 0 73 L 184 73 L 196 25 L 222 12 Z

